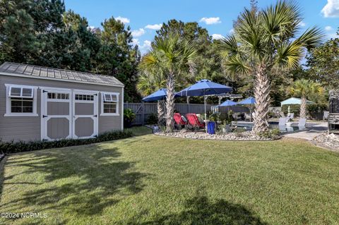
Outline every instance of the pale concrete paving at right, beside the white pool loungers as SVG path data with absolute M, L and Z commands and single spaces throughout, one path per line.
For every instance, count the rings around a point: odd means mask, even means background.
M 326 123 L 316 123 L 312 124 L 311 128 L 307 128 L 307 130 L 295 131 L 294 133 L 284 133 L 283 137 L 286 138 L 302 138 L 306 140 L 312 140 L 319 134 L 326 132 L 327 130 L 327 122 Z

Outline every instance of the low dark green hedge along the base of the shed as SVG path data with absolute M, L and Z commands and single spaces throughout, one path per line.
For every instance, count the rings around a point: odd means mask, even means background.
M 118 140 L 122 138 L 130 138 L 133 133 L 130 130 L 109 131 L 102 133 L 97 138 L 88 139 L 63 139 L 55 141 L 30 141 L 30 142 L 3 142 L 0 141 L 0 154 L 10 154 L 16 152 L 29 152 L 34 150 L 43 150 L 56 147 L 69 147 L 75 145 L 88 145 L 108 140 Z

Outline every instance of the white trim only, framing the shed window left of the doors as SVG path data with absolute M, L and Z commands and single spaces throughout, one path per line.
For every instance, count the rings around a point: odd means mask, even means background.
M 39 116 L 37 114 L 37 86 L 28 86 L 28 85 L 14 85 L 14 84 L 5 84 L 6 86 L 6 113 L 4 116 Z M 11 97 L 9 97 L 9 90 L 11 87 L 21 87 L 21 88 L 32 88 L 33 92 L 33 111 L 31 113 L 12 113 L 11 112 Z M 24 97 L 28 99 L 28 97 Z

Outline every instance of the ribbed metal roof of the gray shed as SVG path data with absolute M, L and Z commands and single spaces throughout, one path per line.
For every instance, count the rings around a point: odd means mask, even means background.
M 96 85 L 124 87 L 117 78 L 108 75 L 69 71 L 59 68 L 32 66 L 20 63 L 5 62 L 0 66 L 0 74 L 25 78 L 40 78 L 45 80 L 62 80 L 75 83 L 90 83 Z

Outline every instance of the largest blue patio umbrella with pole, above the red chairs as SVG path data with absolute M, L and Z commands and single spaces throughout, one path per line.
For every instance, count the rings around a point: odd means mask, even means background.
M 232 87 L 220 85 L 210 80 L 199 80 L 194 85 L 186 87 L 184 90 L 177 92 L 177 96 L 203 96 L 205 104 L 205 120 L 206 120 L 206 95 L 218 95 L 226 92 L 232 92 Z

